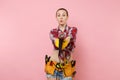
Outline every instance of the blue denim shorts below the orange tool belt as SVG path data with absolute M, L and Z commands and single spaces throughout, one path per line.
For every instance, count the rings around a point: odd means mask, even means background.
M 47 78 L 59 78 L 60 80 L 72 80 L 72 77 L 64 77 L 64 73 L 62 71 L 54 71 L 54 75 L 46 74 Z

